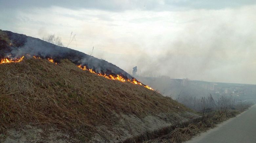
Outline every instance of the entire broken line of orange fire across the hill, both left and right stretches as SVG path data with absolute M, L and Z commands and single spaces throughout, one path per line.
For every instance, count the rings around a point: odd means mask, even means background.
M 10 55 L 11 56 L 11 55 Z M 1 59 L 1 63 L 0 64 L 3 64 L 3 63 L 12 63 L 12 62 L 20 62 L 23 60 L 24 56 L 20 57 L 20 58 L 10 58 L 10 56 L 6 57 L 6 58 L 3 58 Z M 29 54 L 27 54 L 27 56 L 30 56 Z M 33 56 L 35 59 L 42 59 L 41 57 L 37 57 L 37 56 Z M 55 63 L 53 61 L 53 58 L 47 58 L 50 62 L 52 63 Z M 57 63 L 55 63 L 57 64 Z M 85 71 L 90 71 L 91 73 L 95 73 L 99 76 L 103 76 L 107 79 L 110 79 L 110 80 L 118 80 L 118 81 L 121 81 L 121 82 L 130 82 L 130 83 L 133 83 L 133 84 L 138 84 L 138 85 L 141 85 L 141 86 L 144 86 L 150 90 L 154 90 L 152 89 L 151 87 L 147 86 L 147 85 L 144 85 L 142 84 L 141 82 L 139 82 L 138 80 L 136 80 L 135 78 L 134 79 L 129 79 L 129 78 L 125 78 L 123 75 L 114 75 L 114 74 L 102 74 L 102 73 L 96 73 L 95 71 L 93 71 L 92 69 L 89 69 L 87 68 L 86 66 L 81 66 L 81 65 L 78 65 L 77 66 L 78 68 L 82 69 L 82 70 L 85 70 Z

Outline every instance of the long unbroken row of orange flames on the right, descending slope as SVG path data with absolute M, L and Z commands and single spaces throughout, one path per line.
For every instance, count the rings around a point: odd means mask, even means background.
M 80 69 L 82 69 L 82 70 L 90 71 L 90 72 L 92 72 L 92 73 L 95 73 L 95 74 L 97 74 L 97 75 L 99 75 L 99 76 L 104 76 L 105 78 L 108 78 L 108 79 L 119 80 L 119 81 L 121 81 L 121 82 L 126 82 L 126 81 L 128 81 L 128 82 L 133 83 L 133 84 L 138 84 L 138 85 L 144 86 L 144 87 L 146 87 L 146 88 L 148 88 L 148 89 L 150 89 L 150 90 L 154 90 L 154 89 L 152 89 L 152 88 L 149 87 L 149 86 L 143 85 L 141 82 L 137 81 L 135 78 L 134 78 L 133 80 L 130 80 L 130 79 L 127 79 L 127 80 L 126 80 L 125 78 L 123 78 L 121 75 L 118 75 L 118 74 L 117 74 L 116 76 L 113 76 L 113 75 L 106 75 L 106 74 L 102 74 L 102 73 L 96 73 L 96 72 L 93 71 L 92 69 L 87 69 L 86 66 L 82 67 L 81 65 L 78 65 L 77 67 L 80 68 Z

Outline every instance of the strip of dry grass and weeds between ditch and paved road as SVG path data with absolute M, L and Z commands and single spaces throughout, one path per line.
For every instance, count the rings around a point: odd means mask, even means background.
M 143 143 L 181 143 L 192 139 L 195 135 L 216 127 L 217 124 L 235 117 L 248 109 L 251 105 L 237 105 L 235 110 L 221 108 L 211 113 L 202 113 L 202 118 L 169 127 L 169 134 L 156 137 Z

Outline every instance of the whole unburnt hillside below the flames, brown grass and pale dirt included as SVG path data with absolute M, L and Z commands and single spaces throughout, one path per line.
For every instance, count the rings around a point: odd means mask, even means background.
M 120 142 L 195 118 L 156 91 L 69 60 L 0 64 L 0 141 Z

